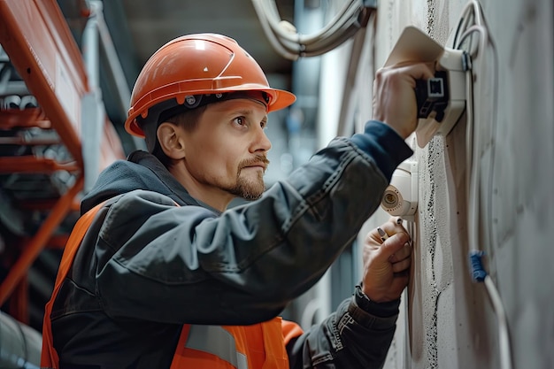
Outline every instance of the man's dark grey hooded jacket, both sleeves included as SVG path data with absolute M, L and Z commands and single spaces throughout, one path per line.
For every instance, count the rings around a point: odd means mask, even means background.
M 52 311 L 60 364 L 169 368 L 182 324 L 279 315 L 355 240 L 411 155 L 392 129 L 369 122 L 365 134 L 335 139 L 257 201 L 222 213 L 189 196 L 146 152 L 114 163 L 82 201 L 85 212 L 111 199 Z M 358 288 L 289 345 L 291 367 L 381 367 L 397 309 Z

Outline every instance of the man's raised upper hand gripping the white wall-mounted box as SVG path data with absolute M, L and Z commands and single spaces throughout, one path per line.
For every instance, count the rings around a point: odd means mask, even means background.
M 435 76 L 433 63 L 399 63 L 382 67 L 373 81 L 373 119 L 381 120 L 404 139 L 418 123 L 416 80 Z

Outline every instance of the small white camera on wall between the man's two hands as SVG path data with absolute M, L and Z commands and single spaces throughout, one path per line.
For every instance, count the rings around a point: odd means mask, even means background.
M 405 160 L 392 174 L 381 200 L 381 208 L 390 215 L 414 220 L 418 209 L 418 163 Z

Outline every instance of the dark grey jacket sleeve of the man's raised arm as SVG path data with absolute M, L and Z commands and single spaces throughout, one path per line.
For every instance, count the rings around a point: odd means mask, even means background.
M 121 196 L 96 241 L 99 304 L 114 319 L 175 324 L 273 318 L 355 239 L 389 183 L 383 172 L 406 158 L 383 153 L 381 171 L 361 146 L 336 139 L 258 201 L 220 215 L 153 191 Z

